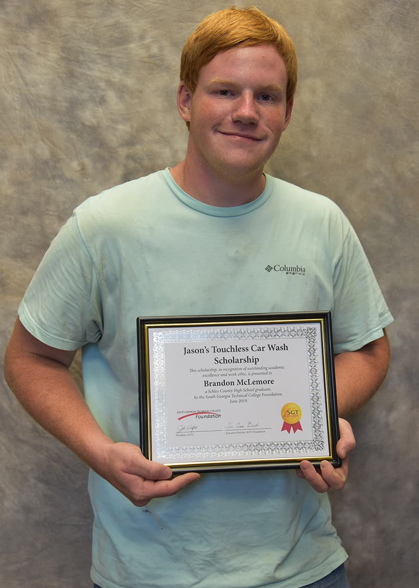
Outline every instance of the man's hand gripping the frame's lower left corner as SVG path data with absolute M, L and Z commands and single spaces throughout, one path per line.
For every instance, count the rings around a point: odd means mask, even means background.
M 139 447 L 130 443 L 110 443 L 104 462 L 104 470 L 98 473 L 135 506 L 145 506 L 153 498 L 173 496 L 200 477 L 193 472 L 173 477 L 169 467 L 150 462 Z

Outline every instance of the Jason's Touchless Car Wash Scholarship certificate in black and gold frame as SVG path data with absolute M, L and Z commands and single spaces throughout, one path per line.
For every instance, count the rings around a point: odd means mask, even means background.
M 137 323 L 145 457 L 173 472 L 340 465 L 330 312 Z

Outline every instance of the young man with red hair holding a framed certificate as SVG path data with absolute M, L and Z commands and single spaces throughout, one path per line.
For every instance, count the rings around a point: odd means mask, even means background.
M 139 315 L 330 309 L 340 415 L 375 392 L 389 358 L 391 316 L 347 219 L 263 173 L 293 108 L 297 62 L 284 29 L 255 8 L 210 15 L 186 42 L 180 78 L 184 161 L 76 209 L 19 307 L 6 377 L 91 468 L 92 579 L 102 588 L 345 586 L 323 492 L 346 482 L 346 421 L 343 466 L 303 462 L 299 476 L 172 478 L 138 447 Z M 304 276 L 270 275 L 267 260 Z M 79 347 L 85 399 L 68 372 Z

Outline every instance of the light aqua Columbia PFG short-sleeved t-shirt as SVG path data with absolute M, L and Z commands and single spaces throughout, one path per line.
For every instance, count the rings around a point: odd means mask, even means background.
M 309 310 L 331 311 L 336 353 L 392 320 L 333 202 L 267 175 L 255 201 L 218 208 L 166 169 L 75 210 L 19 317 L 47 345 L 83 347 L 93 415 L 113 440 L 138 445 L 138 316 Z M 298 588 L 347 557 L 327 495 L 292 471 L 207 473 L 142 508 L 90 471 L 89 493 L 102 588 Z

